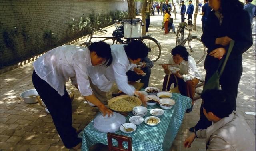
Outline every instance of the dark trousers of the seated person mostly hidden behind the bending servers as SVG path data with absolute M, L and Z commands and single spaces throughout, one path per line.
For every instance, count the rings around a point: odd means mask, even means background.
M 146 73 L 146 76 L 138 75 L 131 70 L 126 72 L 126 75 L 128 77 L 128 81 L 131 81 L 131 82 L 135 82 L 140 79 L 140 82 L 144 83 L 142 88 L 145 89 L 146 87 L 148 87 L 148 82 L 151 75 L 151 68 L 142 68 L 141 70 L 143 70 L 143 72 Z

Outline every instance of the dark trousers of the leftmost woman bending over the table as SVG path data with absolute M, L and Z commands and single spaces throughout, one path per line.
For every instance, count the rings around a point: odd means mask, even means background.
M 32 82 L 41 99 L 49 110 L 56 130 L 65 147 L 72 148 L 81 142 L 77 138 L 76 129 L 72 127 L 71 99 L 66 91 L 63 96 L 53 89 L 46 81 L 33 72 Z

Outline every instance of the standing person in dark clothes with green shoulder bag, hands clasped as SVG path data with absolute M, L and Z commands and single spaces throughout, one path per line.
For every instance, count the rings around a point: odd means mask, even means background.
M 252 46 L 250 18 L 239 0 L 209 0 L 209 6 L 213 11 L 208 15 L 205 32 L 201 37 L 208 48 L 204 61 L 205 83 L 216 72 L 220 60 L 225 59 L 230 41 L 234 40 L 234 47 L 220 77 L 220 85 L 227 101 L 236 110 L 238 84 L 242 76 L 242 54 Z M 238 20 L 242 24 L 237 24 Z M 210 125 L 212 122 L 204 116 L 201 105 L 200 120 L 190 131 L 205 129 Z

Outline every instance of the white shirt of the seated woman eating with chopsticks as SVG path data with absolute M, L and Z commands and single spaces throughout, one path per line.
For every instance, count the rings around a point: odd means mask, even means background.
M 169 59 L 169 64 L 175 64 L 175 62 L 172 59 L 172 56 Z M 196 79 L 202 78 L 198 72 L 197 67 L 196 67 L 196 61 L 191 56 L 188 56 L 188 61 L 182 60 L 182 62 L 180 64 L 170 65 L 170 67 L 180 68 L 179 73 L 180 73 L 180 75 L 183 76 L 183 80 L 185 82 L 192 80 L 194 78 L 196 78 Z

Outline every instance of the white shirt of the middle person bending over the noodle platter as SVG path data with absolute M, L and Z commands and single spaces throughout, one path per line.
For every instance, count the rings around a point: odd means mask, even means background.
M 107 68 L 104 66 L 88 68 L 88 76 L 91 78 L 92 83 L 101 91 L 110 91 L 115 81 L 119 90 L 127 95 L 134 95 L 135 88 L 128 84 L 126 72 L 133 70 L 136 64 L 130 63 L 124 51 L 124 45 L 112 45 L 111 54 L 113 62 L 110 66 Z

